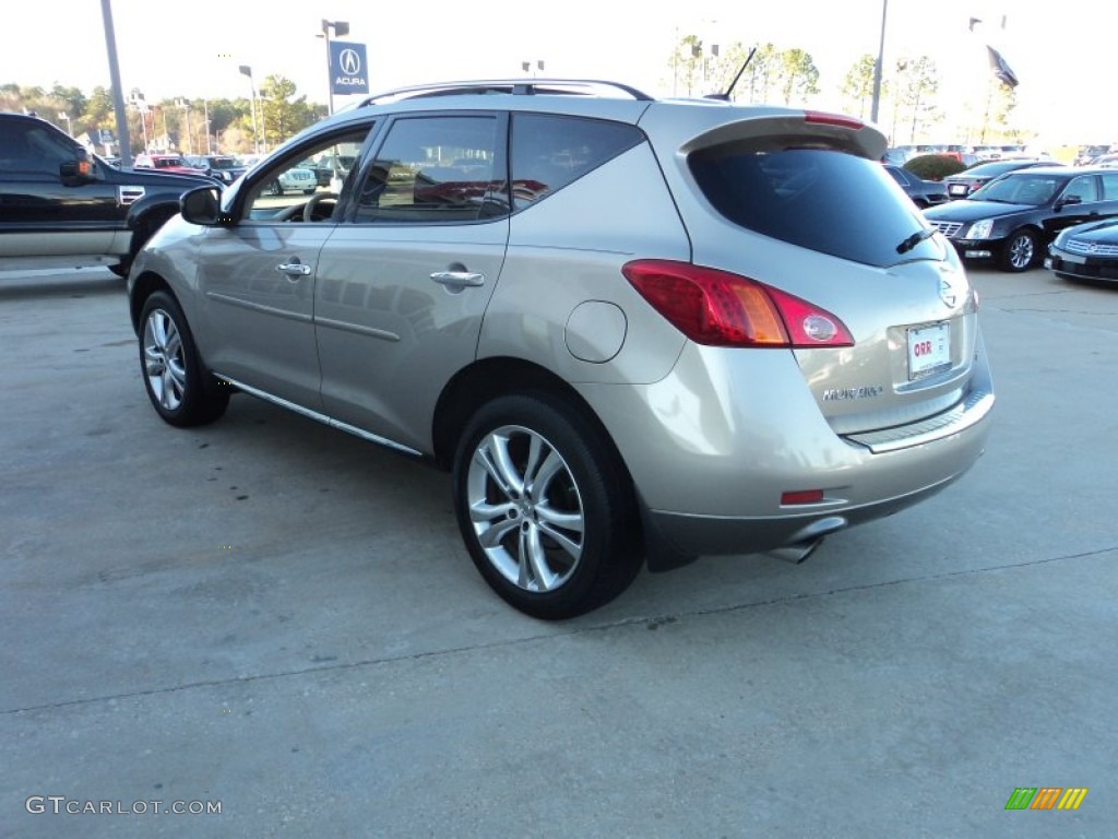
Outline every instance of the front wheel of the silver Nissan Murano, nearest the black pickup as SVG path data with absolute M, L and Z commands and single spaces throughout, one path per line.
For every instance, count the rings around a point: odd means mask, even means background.
M 157 291 L 140 313 L 140 365 L 155 412 L 171 425 L 205 425 L 225 413 L 229 389 L 202 369 L 182 309 Z

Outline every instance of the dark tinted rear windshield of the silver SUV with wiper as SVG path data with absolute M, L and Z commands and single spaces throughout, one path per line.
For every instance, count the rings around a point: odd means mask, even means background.
M 689 158 L 707 199 L 756 233 L 866 265 L 941 258 L 927 224 L 880 163 L 831 149 L 716 147 Z

